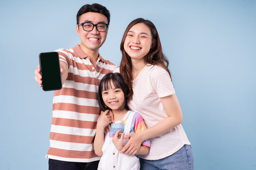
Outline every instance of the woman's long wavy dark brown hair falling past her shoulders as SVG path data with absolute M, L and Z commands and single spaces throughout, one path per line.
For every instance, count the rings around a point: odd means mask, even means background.
M 128 87 L 129 87 L 128 101 L 132 98 L 132 95 L 133 95 L 132 80 L 134 77 L 132 77 L 131 58 L 127 54 L 127 52 L 124 50 L 124 42 L 125 42 L 125 38 L 127 36 L 128 31 L 130 30 L 130 28 L 138 23 L 143 23 L 146 26 L 148 26 L 148 28 L 151 31 L 151 35 L 152 35 L 153 46 L 150 49 L 150 51 L 146 54 L 146 56 L 144 57 L 144 63 L 150 64 L 150 65 L 157 65 L 157 66 L 164 68 L 169 73 L 169 75 L 171 77 L 171 73 L 168 69 L 169 61 L 162 51 L 160 38 L 159 38 L 159 35 L 155 28 L 155 25 L 151 21 L 145 20 L 143 18 L 137 18 L 137 19 L 133 20 L 127 26 L 127 28 L 123 34 L 121 44 L 120 44 L 120 50 L 122 52 L 122 59 L 120 62 L 120 74 L 121 74 L 125 84 L 128 85 Z M 172 79 L 172 77 L 171 77 L 171 79 Z

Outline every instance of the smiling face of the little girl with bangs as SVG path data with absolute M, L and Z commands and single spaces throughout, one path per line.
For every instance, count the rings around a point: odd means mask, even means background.
M 104 85 L 102 85 L 102 87 L 103 87 L 103 89 L 102 89 L 103 102 L 111 110 L 119 111 L 123 108 L 123 105 L 124 105 L 124 92 L 121 88 L 116 88 L 112 82 L 110 85 L 109 85 L 109 87 L 110 87 L 109 89 L 104 89 Z

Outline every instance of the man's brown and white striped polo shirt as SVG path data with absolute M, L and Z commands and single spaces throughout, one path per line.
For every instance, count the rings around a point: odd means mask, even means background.
M 54 92 L 50 148 L 46 158 L 91 162 L 100 160 L 94 153 L 93 140 L 100 115 L 98 87 L 101 78 L 116 66 L 99 54 L 96 68 L 77 44 L 59 49 L 60 62 L 68 66 L 68 76 L 61 90 Z

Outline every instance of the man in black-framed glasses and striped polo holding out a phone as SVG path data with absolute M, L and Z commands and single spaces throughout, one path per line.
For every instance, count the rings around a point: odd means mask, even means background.
M 76 16 L 81 44 L 59 49 L 63 88 L 54 92 L 50 132 L 49 170 L 96 170 L 100 157 L 93 150 L 100 115 L 97 93 L 101 78 L 116 68 L 99 54 L 110 23 L 110 12 L 100 4 L 86 4 Z M 42 87 L 40 67 L 35 80 Z

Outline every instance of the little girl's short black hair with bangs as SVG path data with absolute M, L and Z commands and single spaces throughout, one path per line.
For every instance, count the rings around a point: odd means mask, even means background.
M 120 73 L 108 73 L 106 74 L 100 82 L 99 85 L 99 91 L 98 91 L 98 97 L 99 97 L 99 106 L 101 108 L 102 111 L 106 111 L 106 110 L 111 110 L 108 106 L 106 106 L 106 104 L 104 103 L 103 99 L 102 99 L 102 89 L 104 88 L 105 90 L 108 90 L 111 87 L 111 82 L 113 83 L 113 85 L 115 86 L 115 88 L 121 88 L 122 91 L 124 92 L 124 105 L 122 110 L 126 109 L 126 110 L 130 110 L 128 107 L 128 101 L 127 101 L 127 96 L 129 93 L 129 88 L 128 86 L 124 83 Z M 103 87 L 104 85 L 104 87 Z

